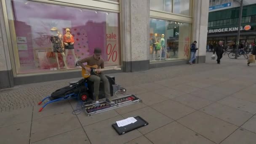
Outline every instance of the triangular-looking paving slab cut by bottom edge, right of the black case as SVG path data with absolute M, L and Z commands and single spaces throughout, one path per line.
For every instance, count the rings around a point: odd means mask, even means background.
M 147 133 L 145 136 L 154 144 L 214 144 L 176 122 Z

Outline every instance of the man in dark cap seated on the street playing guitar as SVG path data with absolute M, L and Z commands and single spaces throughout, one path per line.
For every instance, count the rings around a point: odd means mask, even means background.
M 88 72 L 91 72 L 91 68 L 86 67 L 83 63 L 87 62 L 87 65 L 94 66 L 97 65 L 98 68 L 104 69 L 104 60 L 101 58 L 101 49 L 95 48 L 93 56 L 89 56 L 85 59 L 82 59 L 80 61 L 77 61 L 77 64 L 80 65 L 83 69 L 85 69 Z M 99 106 L 99 84 L 100 81 L 104 83 L 104 92 L 106 96 L 106 102 L 109 104 L 114 104 L 113 101 L 111 101 L 110 98 L 110 89 L 109 89 L 109 80 L 107 77 L 101 73 L 101 71 L 97 70 L 97 75 L 91 75 L 88 77 L 88 80 L 92 81 L 94 83 L 94 98 L 95 98 L 95 106 Z

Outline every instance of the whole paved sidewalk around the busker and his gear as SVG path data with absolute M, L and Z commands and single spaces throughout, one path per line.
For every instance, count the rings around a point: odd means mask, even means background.
M 206 64 L 113 74 L 142 103 L 87 117 L 76 101 L 37 102 L 69 81 L 0 91 L 0 144 L 255 144 L 256 64 L 227 56 Z M 149 125 L 119 136 L 111 124 L 141 116 Z

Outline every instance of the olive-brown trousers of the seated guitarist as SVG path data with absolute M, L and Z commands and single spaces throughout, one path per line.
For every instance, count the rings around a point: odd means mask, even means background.
M 109 80 L 104 74 L 100 74 L 99 76 L 91 75 L 88 77 L 88 80 L 93 82 L 93 96 L 95 96 L 95 101 L 99 101 L 99 84 L 101 81 L 104 83 L 105 97 L 107 99 L 110 98 Z

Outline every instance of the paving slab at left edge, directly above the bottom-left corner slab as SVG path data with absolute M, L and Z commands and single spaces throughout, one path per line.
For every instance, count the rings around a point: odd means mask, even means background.
M 16 109 L 11 112 L 2 112 L 0 113 L 0 117 L 0 128 L 31 121 L 32 107 Z

